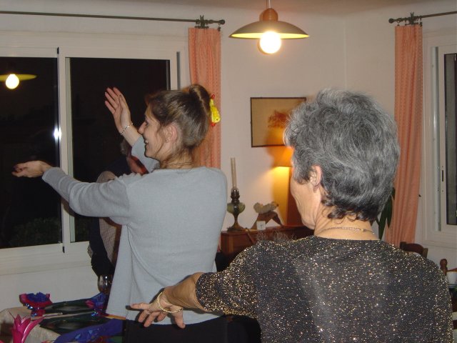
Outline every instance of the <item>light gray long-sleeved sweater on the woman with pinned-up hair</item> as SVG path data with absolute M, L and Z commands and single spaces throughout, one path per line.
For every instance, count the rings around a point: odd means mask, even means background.
M 132 153 L 149 170 L 156 165 L 144 157 L 143 139 L 136 141 Z M 151 302 L 162 288 L 195 272 L 216 271 L 214 257 L 227 202 L 226 177 L 219 169 L 156 169 L 98 184 L 79 182 L 51 168 L 43 179 L 76 213 L 110 217 L 123 226 L 109 314 L 135 319 L 139 312 L 129 310 L 129 304 Z M 184 311 L 187 324 L 214 317 Z M 157 324 L 171 324 L 171 319 Z

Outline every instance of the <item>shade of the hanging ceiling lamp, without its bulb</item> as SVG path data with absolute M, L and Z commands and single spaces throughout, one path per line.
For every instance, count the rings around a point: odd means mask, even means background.
M 230 36 L 241 39 L 261 39 L 267 32 L 276 32 L 281 39 L 301 39 L 308 37 L 305 31 L 295 25 L 278 21 L 278 13 L 274 9 L 266 9 L 260 16 L 260 21 L 247 24 L 236 30 Z

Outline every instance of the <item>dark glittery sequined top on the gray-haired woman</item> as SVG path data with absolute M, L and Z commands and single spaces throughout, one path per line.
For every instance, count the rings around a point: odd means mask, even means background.
M 203 274 L 209 310 L 256 318 L 262 342 L 451 343 L 451 297 L 438 266 L 381 241 L 259 242 Z

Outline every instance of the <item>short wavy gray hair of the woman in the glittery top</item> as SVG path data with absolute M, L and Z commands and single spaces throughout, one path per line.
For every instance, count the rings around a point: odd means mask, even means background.
M 294 148 L 296 182 L 321 167 L 329 218 L 376 219 L 391 195 L 400 149 L 393 117 L 373 99 L 324 89 L 293 109 L 284 139 Z

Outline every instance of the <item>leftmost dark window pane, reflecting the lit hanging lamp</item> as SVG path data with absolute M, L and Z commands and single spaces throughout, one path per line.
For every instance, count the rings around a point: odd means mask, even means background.
M 0 84 L 0 248 L 61 242 L 59 195 L 40 178 L 16 178 L 14 164 L 59 165 L 57 59 L 0 57 L 0 73 L 34 74 L 15 89 Z

